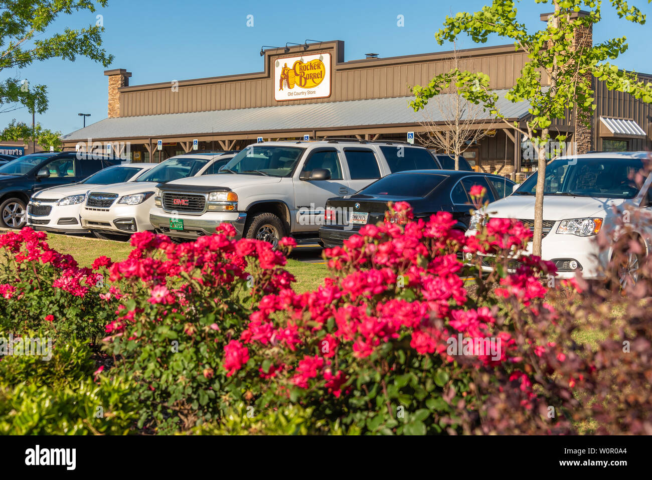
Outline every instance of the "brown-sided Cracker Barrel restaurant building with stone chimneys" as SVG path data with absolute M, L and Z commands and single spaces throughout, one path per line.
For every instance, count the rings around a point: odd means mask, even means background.
M 592 41 L 591 31 L 582 35 Z M 410 87 L 451 70 L 454 56 L 462 70 L 489 75 L 499 110 L 510 122 L 524 123 L 529 115 L 529 104 L 505 99 L 527 62 L 526 53 L 513 45 L 344 61 L 343 41 L 306 40 L 260 53 L 261 72 L 179 82 L 130 85 L 131 72 L 106 70 L 108 118 L 65 135 L 64 147 L 128 152 L 134 162 L 158 162 L 192 149 L 242 149 L 261 139 L 406 140 L 408 132 L 416 132 L 415 143 L 420 143 L 427 135 L 445 136 L 449 128 L 436 102 L 450 101 L 454 94 L 437 95 L 426 109 L 414 112 Z M 652 76 L 640 79 L 652 81 Z M 651 149 L 651 106 L 608 91 L 596 79 L 593 83 L 591 128 L 572 117 L 551 128 L 567 134 L 577 153 Z M 511 175 L 535 161 L 524 155 L 516 130 L 488 113 L 477 115 L 473 128 L 483 129 L 484 136 L 464 156 L 481 171 Z

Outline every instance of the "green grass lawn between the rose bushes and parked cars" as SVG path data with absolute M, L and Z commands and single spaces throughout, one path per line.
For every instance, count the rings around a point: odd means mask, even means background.
M 58 233 L 48 233 L 48 245 L 62 254 L 72 255 L 82 267 L 90 267 L 93 260 L 102 255 L 110 257 L 114 262 L 125 260 L 132 250 L 128 242 Z M 327 275 L 326 265 L 299 262 L 291 258 L 288 259 L 286 269 L 297 278 L 297 292 L 315 290 Z

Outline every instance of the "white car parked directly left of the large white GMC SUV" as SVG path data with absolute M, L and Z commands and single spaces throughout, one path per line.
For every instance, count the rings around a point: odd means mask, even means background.
M 160 162 L 136 181 L 94 188 L 82 207 L 82 226 L 103 239 L 126 239 L 134 232 L 154 230 L 149 223 L 149 209 L 154 205 L 156 185 L 215 173 L 233 155 L 235 152 L 177 155 Z

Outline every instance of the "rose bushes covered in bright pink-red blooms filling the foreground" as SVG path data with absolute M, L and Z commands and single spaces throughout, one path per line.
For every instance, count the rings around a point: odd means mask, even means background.
M 235 241 L 231 226 L 181 245 L 137 233 L 125 261 L 100 257 L 93 270 L 40 233 L 12 232 L 0 237 L 0 321 L 67 344 L 104 319 L 91 377 L 100 391 L 128 385 L 122 401 L 139 408 L 125 407 L 123 432 L 550 434 L 596 416 L 589 430 L 652 431 L 645 288 L 548 288 L 554 265 L 523 254 L 530 232 L 515 220 L 469 237 L 447 213 L 413 220 L 406 203 L 385 220 L 325 251 L 331 273 L 306 293 L 284 269 L 293 241 L 273 251 Z M 605 300 L 622 323 L 608 322 Z M 599 341 L 578 342 L 578 329 Z M 12 388 L 37 387 L 30 365 L 6 364 Z

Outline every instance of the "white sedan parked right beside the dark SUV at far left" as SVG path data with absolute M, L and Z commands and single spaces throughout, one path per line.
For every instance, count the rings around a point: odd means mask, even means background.
M 111 183 L 132 182 L 156 163 L 115 165 L 72 185 L 39 190 L 27 203 L 27 225 L 35 230 L 59 233 L 88 233 L 80 220 L 80 208 L 92 188 Z

